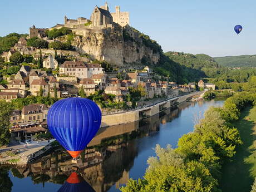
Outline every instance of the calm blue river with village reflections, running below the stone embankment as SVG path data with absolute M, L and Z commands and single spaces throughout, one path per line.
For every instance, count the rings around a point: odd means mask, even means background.
M 181 136 L 193 131 L 195 116 L 223 102 L 185 102 L 160 117 L 101 129 L 77 164 L 72 164 L 70 156 L 58 147 L 30 165 L 0 167 L 0 184 L 6 185 L 4 191 L 58 191 L 75 165 L 96 192 L 120 191 L 129 178 L 144 175 L 156 144 L 175 148 Z

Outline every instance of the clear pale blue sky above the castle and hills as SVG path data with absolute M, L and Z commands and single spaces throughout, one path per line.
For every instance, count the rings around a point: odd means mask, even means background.
M 94 0 L 0 1 L 0 36 L 28 33 L 28 28 L 52 27 L 63 17 L 90 18 Z M 164 51 L 206 53 L 210 56 L 254 55 L 255 0 L 109 0 L 110 11 L 120 5 L 130 12 L 130 24 L 156 40 Z M 237 36 L 234 26 L 241 24 Z

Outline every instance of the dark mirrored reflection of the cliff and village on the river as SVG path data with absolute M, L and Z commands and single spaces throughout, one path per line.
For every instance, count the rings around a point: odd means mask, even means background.
M 100 129 L 88 149 L 81 154 L 81 160 L 75 164 L 78 172 L 97 192 L 107 191 L 112 185 L 119 188 L 119 185 L 126 184 L 138 154 L 136 139 L 159 131 L 160 123 L 166 124 L 178 117 L 179 111 L 187 106 L 166 110 L 160 118 L 155 115 L 140 122 Z M 12 172 L 19 178 L 31 176 L 34 183 L 63 184 L 71 174 L 73 165 L 65 150 L 56 149 L 35 163 L 19 166 Z

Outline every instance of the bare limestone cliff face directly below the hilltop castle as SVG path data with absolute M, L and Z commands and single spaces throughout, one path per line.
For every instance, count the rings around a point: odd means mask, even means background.
M 156 64 L 159 61 L 159 50 L 154 50 L 141 33 L 131 27 L 116 26 L 105 31 L 90 30 L 82 34 L 73 45 L 79 52 L 88 53 L 97 60 L 117 66 L 126 63 Z

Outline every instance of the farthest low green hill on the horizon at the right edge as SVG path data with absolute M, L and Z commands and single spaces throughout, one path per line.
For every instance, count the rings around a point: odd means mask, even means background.
M 256 55 L 214 57 L 214 60 L 225 67 L 256 67 Z

